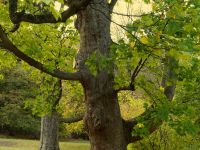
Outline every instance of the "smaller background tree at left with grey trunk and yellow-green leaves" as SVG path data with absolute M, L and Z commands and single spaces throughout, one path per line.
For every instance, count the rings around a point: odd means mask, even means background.
M 48 30 L 48 28 L 49 27 L 46 26 L 46 28 L 45 28 L 46 31 Z M 50 49 L 50 52 L 48 53 L 48 55 L 50 57 L 48 57 L 48 58 L 40 57 L 40 59 L 42 61 L 50 62 L 49 65 L 51 67 L 58 66 L 58 64 L 60 64 L 60 62 L 63 61 L 62 58 L 60 57 L 62 50 L 64 49 L 63 45 L 66 45 L 70 48 L 70 52 L 65 51 L 65 53 L 68 53 L 69 55 L 74 53 L 73 48 L 70 45 L 70 43 L 72 43 L 72 42 L 76 43 L 77 38 L 74 37 L 74 34 L 76 34 L 76 32 L 74 30 L 66 29 L 65 26 L 63 25 L 63 26 L 60 26 L 60 30 L 62 32 L 59 32 L 59 31 L 54 32 L 54 34 L 51 34 L 51 37 L 50 36 L 44 37 L 44 39 L 42 37 L 42 35 L 43 35 L 42 29 L 37 28 L 37 30 L 38 30 L 38 34 L 35 34 L 35 36 L 37 38 L 39 38 L 37 40 L 37 42 L 39 43 L 40 48 L 43 49 L 42 53 L 45 53 L 45 50 L 44 50 L 45 47 L 48 47 Z M 52 30 L 52 29 L 50 29 L 50 30 Z M 64 30 L 70 30 L 67 34 L 67 38 L 66 38 L 66 35 L 64 35 L 64 33 L 65 33 Z M 24 30 L 22 31 L 22 33 L 26 32 L 26 31 L 27 30 L 25 27 Z M 73 35 L 74 40 L 72 40 L 72 42 L 71 42 L 71 41 L 69 41 L 69 36 L 72 36 L 72 35 Z M 21 36 L 21 35 L 19 35 L 19 36 Z M 31 40 L 31 38 L 32 37 L 30 37 L 29 39 Z M 54 45 L 53 44 L 49 45 L 51 38 L 54 38 L 56 41 Z M 32 38 L 32 40 L 34 40 L 34 38 Z M 57 43 L 59 43 L 59 44 L 57 44 Z M 34 46 L 33 44 L 31 44 L 31 45 Z M 2 54 L 2 55 L 4 55 L 4 54 Z M 64 55 L 66 55 L 66 54 L 64 54 Z M 3 61 L 3 59 L 4 58 L 2 56 L 1 60 Z M 12 63 L 10 61 L 11 60 L 6 60 L 3 63 L 5 64 L 5 66 L 7 66 L 8 63 Z M 3 66 L 2 66 L 2 68 L 3 68 Z M 24 68 L 24 70 L 22 68 Z M 26 101 L 23 102 L 23 107 L 24 107 L 24 103 L 25 103 L 26 109 L 31 109 L 34 115 L 42 118 L 42 121 L 41 121 L 41 145 L 39 147 L 40 147 L 40 149 L 49 149 L 49 148 L 59 149 L 59 145 L 58 145 L 59 123 L 60 122 L 61 123 L 62 122 L 65 122 L 65 123 L 77 122 L 79 120 L 82 120 L 83 117 L 82 117 L 82 115 L 81 116 L 78 115 L 78 116 L 67 117 L 67 118 L 63 119 L 60 114 L 61 111 L 60 112 L 57 111 L 57 109 L 59 107 L 58 103 L 62 96 L 61 80 L 57 80 L 55 78 L 52 78 L 51 76 L 45 76 L 44 74 L 41 74 L 38 71 L 33 70 L 32 68 L 29 68 L 27 65 L 24 65 L 24 64 L 21 65 L 21 68 L 19 67 L 19 71 L 20 71 L 20 69 L 22 69 L 23 72 L 27 72 L 24 75 L 26 75 L 27 78 L 29 78 L 32 82 L 35 82 L 35 86 L 30 85 L 34 90 L 31 88 L 23 89 L 23 90 L 30 89 L 31 92 L 30 91 L 27 91 L 27 92 L 32 93 L 34 95 L 33 98 L 31 96 L 27 97 Z M 70 69 L 70 67 L 68 67 L 68 69 Z M 16 82 L 17 81 L 18 80 L 16 80 Z M 19 82 L 21 82 L 21 80 Z M 15 83 L 13 83 L 13 84 L 15 84 Z M 8 90 L 10 90 L 10 89 L 8 89 Z M 78 89 L 76 89 L 76 90 L 78 90 Z M 23 110 L 23 108 L 20 108 L 20 109 Z M 38 134 L 38 132 L 37 132 L 37 134 Z

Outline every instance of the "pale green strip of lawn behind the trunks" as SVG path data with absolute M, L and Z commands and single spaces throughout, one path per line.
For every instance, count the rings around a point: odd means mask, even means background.
M 38 140 L 21 140 L 0 138 L 0 150 L 37 150 Z M 61 150 L 89 150 L 88 141 L 60 142 Z

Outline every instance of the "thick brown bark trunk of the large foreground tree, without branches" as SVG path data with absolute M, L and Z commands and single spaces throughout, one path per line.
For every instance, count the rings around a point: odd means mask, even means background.
M 91 150 L 125 150 L 126 141 L 117 93 L 113 89 L 113 76 L 100 69 L 93 76 L 84 66 L 86 58 L 93 52 L 109 56 L 111 43 L 107 1 L 93 0 L 91 3 L 78 13 L 77 20 L 81 42 L 76 67 L 87 72 L 82 83 L 86 103 L 85 126 Z M 98 63 L 96 65 L 98 68 Z

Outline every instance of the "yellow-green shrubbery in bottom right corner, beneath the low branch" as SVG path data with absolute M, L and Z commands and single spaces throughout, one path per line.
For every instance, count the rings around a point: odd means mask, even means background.
M 129 144 L 129 149 L 137 150 L 198 150 L 200 148 L 198 135 L 180 136 L 167 124 L 163 124 L 155 133 L 144 140 Z

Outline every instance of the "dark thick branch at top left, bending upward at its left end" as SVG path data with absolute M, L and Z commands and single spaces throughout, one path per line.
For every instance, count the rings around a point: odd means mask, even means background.
M 51 13 L 34 15 L 25 12 L 17 12 L 18 0 L 9 0 L 10 19 L 14 24 L 19 24 L 22 21 L 34 24 L 66 22 L 67 19 L 76 14 L 80 9 L 86 7 L 90 1 L 91 0 L 72 0 L 69 8 L 61 13 L 61 18 L 56 20 L 56 18 Z

